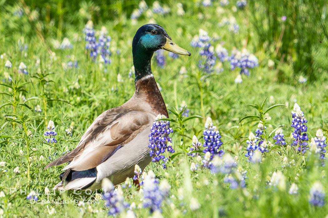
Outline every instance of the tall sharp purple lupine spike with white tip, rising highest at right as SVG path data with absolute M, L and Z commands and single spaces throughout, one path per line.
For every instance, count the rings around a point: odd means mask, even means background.
M 309 140 L 306 131 L 307 131 L 307 120 L 304 118 L 304 113 L 301 111 L 301 108 L 298 106 L 297 103 L 294 105 L 294 109 L 292 111 L 292 125 L 295 130 L 293 132 L 293 146 L 297 146 L 296 150 L 298 152 L 305 153 L 306 150 L 309 149 L 308 143 L 306 141 Z

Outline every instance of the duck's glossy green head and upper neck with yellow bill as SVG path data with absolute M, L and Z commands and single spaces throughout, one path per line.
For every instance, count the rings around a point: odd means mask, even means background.
M 151 59 L 155 51 L 164 49 L 179 55 L 188 55 L 190 52 L 175 44 L 165 29 L 160 25 L 147 24 L 141 26 L 132 42 L 133 65 L 135 81 L 152 74 Z

